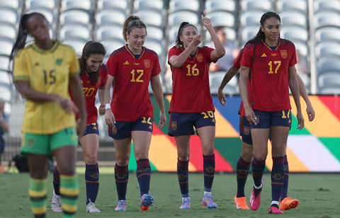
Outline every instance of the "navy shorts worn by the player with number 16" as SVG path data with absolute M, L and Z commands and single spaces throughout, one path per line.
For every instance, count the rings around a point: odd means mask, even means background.
M 216 120 L 214 111 L 209 110 L 201 113 L 175 113 L 172 112 L 169 118 L 169 136 L 195 134 L 193 127 L 197 130 L 200 127 L 215 127 Z

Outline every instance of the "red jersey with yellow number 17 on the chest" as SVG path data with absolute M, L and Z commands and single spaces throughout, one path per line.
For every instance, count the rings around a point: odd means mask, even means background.
M 291 109 L 288 68 L 295 64 L 295 46 L 289 40 L 279 39 L 275 50 L 265 42 L 256 45 L 249 43 L 244 46 L 241 65 L 251 69 L 252 109 L 262 111 Z

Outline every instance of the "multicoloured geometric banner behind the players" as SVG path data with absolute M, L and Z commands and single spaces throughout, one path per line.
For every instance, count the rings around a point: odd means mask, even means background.
M 159 121 L 159 109 L 154 97 L 154 123 Z M 232 172 L 236 168 L 237 160 L 242 150 L 239 137 L 239 96 L 227 98 L 227 105 L 223 106 L 212 97 L 215 105 L 216 139 L 215 161 L 216 171 Z M 166 110 L 169 108 L 171 96 L 165 96 Z M 301 98 L 302 112 L 305 117 L 305 128 L 296 130 L 297 119 L 293 98 L 290 98 L 293 113 L 293 123 L 288 137 L 288 162 L 290 172 L 340 172 L 340 97 L 339 96 L 310 96 L 315 110 L 315 119 L 307 120 L 305 101 Z M 169 121 L 169 114 L 167 114 Z M 177 150 L 174 137 L 167 135 L 168 127 L 160 130 L 154 125 L 149 159 L 154 171 L 176 171 Z M 133 149 L 132 149 L 133 150 Z M 136 166 L 133 154 L 130 160 L 130 170 Z M 266 168 L 271 169 L 271 144 L 268 143 Z M 203 154 L 200 138 L 191 137 L 191 156 L 189 171 L 203 171 Z

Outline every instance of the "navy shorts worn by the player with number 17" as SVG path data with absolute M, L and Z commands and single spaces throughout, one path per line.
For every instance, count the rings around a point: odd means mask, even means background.
M 250 122 L 251 129 L 267 129 L 271 126 L 292 126 L 292 114 L 290 110 L 280 110 L 280 111 L 261 111 L 254 110 L 254 113 L 259 120 L 257 125 Z

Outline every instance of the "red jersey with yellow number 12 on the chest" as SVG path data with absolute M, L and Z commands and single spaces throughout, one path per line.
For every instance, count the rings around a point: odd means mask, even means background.
M 161 72 L 156 52 L 143 47 L 139 58 L 125 45 L 115 50 L 106 63 L 108 74 L 115 78 L 111 110 L 115 120 L 135 122 L 140 117 L 154 117 L 149 97 L 151 76 Z

